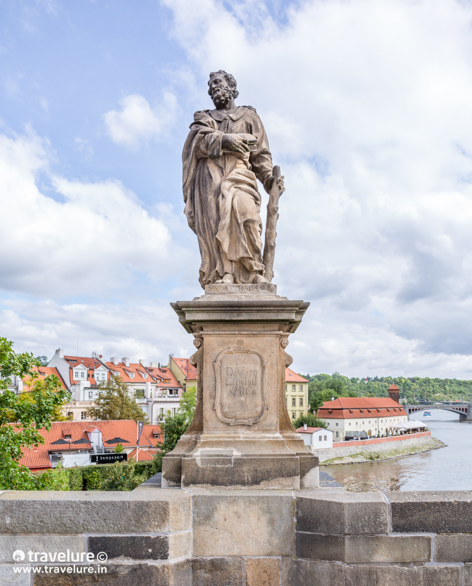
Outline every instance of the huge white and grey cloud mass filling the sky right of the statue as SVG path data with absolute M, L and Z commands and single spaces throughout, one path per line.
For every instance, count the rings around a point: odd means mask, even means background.
M 286 176 L 275 282 L 312 302 L 294 365 L 470 377 L 472 6 L 312 0 L 282 25 L 252 1 L 163 4 L 194 109 L 230 71 Z

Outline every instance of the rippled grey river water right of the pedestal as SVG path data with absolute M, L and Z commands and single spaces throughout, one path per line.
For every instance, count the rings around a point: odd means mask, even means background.
M 472 490 L 472 421 L 459 421 L 450 411 L 430 409 L 415 419 L 424 421 L 431 435 L 447 444 L 423 454 L 383 462 L 320 466 L 346 490 Z

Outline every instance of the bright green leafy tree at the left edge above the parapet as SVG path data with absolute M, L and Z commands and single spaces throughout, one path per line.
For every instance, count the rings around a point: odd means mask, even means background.
M 33 476 L 26 466 L 20 465 L 22 447 L 44 444 L 40 430 L 50 430 L 54 408 L 61 406 L 67 391 L 53 375 L 44 379 L 41 389 L 33 387 L 28 401 L 9 391 L 12 376 L 38 376 L 33 371 L 37 362 L 32 353 L 16 354 L 12 347 L 13 342 L 0 338 L 0 489 L 44 489 L 51 485 L 51 475 Z M 15 423 L 10 423 L 12 420 Z

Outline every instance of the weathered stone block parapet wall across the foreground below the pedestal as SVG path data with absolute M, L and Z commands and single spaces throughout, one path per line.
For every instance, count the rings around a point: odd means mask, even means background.
M 5 491 L 0 556 L 2 586 L 472 586 L 472 492 Z

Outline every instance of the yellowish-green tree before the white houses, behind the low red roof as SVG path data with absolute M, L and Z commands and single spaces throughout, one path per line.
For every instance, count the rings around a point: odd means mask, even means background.
M 98 385 L 98 397 L 95 406 L 87 409 L 88 417 L 93 419 L 119 420 L 134 419 L 147 423 L 148 417 L 136 401 L 128 395 L 128 385 L 119 376 Z

